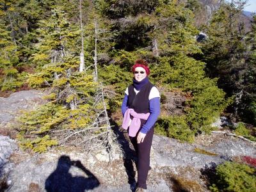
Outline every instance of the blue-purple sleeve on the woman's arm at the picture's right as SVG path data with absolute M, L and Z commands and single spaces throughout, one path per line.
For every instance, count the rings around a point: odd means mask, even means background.
M 156 123 L 157 117 L 160 114 L 160 98 L 155 97 L 149 100 L 149 111 L 147 122 L 142 126 L 140 132 L 147 133 L 149 129 Z

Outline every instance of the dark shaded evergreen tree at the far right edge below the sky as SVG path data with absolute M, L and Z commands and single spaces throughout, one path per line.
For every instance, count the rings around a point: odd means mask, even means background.
M 207 74 L 218 77 L 218 86 L 235 96 L 232 113 L 237 120 L 253 123 L 248 116 L 248 95 L 253 91 L 253 62 L 248 61 L 248 46 L 241 21 L 244 1 L 223 3 L 205 27 L 209 39 L 204 42 L 202 61 L 207 63 Z M 249 48 L 250 49 L 250 48 Z M 250 80 L 249 80 L 250 79 Z M 251 100 L 252 102 L 252 100 Z M 246 115 L 245 115 L 246 114 Z

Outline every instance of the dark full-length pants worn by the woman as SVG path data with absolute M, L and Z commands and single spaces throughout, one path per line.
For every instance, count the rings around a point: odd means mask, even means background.
M 152 145 L 152 139 L 154 134 L 154 127 L 152 127 L 146 134 L 143 143 L 137 143 L 137 136 L 130 137 L 131 143 L 138 156 L 138 188 L 147 189 L 147 177 L 150 163 L 150 148 Z

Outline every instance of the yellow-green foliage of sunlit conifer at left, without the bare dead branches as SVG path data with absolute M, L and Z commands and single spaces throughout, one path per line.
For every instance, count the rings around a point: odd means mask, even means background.
M 29 76 L 28 83 L 32 88 L 47 86 L 51 93 L 44 97 L 49 100 L 47 104 L 20 118 L 23 123 L 20 142 L 43 152 L 56 144 L 51 138 L 52 130 L 86 128 L 94 120 L 93 95 L 98 84 L 93 82 L 92 75 L 77 72 L 76 51 L 81 50 L 76 44 L 80 31 L 68 21 L 67 13 L 53 9 L 51 16 L 40 20 L 38 33 L 38 51 L 31 57 L 38 67 L 37 72 Z

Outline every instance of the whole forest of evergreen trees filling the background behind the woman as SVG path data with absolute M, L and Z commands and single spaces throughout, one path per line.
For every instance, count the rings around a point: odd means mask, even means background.
M 138 58 L 161 92 L 157 133 L 193 142 L 225 114 L 255 141 L 256 17 L 246 29 L 245 3 L 220 1 L 207 17 L 198 0 L 1 0 L 1 95 L 36 88 L 49 101 L 20 118 L 20 145 L 44 152 L 61 131 L 103 140 Z

